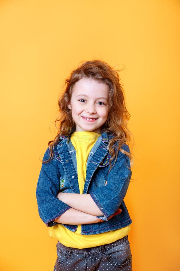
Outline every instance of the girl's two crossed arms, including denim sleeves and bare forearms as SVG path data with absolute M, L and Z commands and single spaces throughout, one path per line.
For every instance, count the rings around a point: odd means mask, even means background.
M 44 160 L 48 158 L 49 154 L 45 153 Z M 53 221 L 71 225 L 103 222 L 97 216 L 102 216 L 103 220 L 111 219 L 121 212 L 118 208 L 131 179 L 131 170 L 127 167 L 127 163 L 125 155 L 120 153 L 120 157 L 116 160 L 116 174 L 114 168 L 108 174 L 107 185 L 99 186 L 91 194 L 59 193 L 58 195 L 61 175 L 56 161 L 53 159 L 49 163 L 42 164 L 36 189 L 41 219 L 47 226 L 55 225 Z

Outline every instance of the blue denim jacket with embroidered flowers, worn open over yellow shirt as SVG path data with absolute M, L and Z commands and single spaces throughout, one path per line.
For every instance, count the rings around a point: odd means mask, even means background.
M 108 143 L 113 135 L 102 133 L 92 147 L 87 161 L 84 194 L 90 194 L 104 216 L 98 216 L 100 223 L 81 225 L 82 235 L 92 235 L 107 232 L 132 223 L 127 207 L 123 201 L 131 179 L 130 163 L 127 155 L 118 152 L 116 163 L 110 169 L 110 154 Z M 128 145 L 123 145 L 125 151 L 129 151 Z M 43 161 L 48 160 L 49 148 L 44 154 Z M 53 159 L 42 164 L 38 179 L 36 197 L 41 219 L 47 226 L 57 224 L 53 222 L 70 206 L 57 198 L 58 192 L 79 193 L 77 178 L 76 150 L 74 149 L 70 136 L 62 136 L 59 143 L 54 147 Z M 122 212 L 109 217 L 121 208 Z M 64 227 L 75 232 L 77 225 L 66 225 Z

